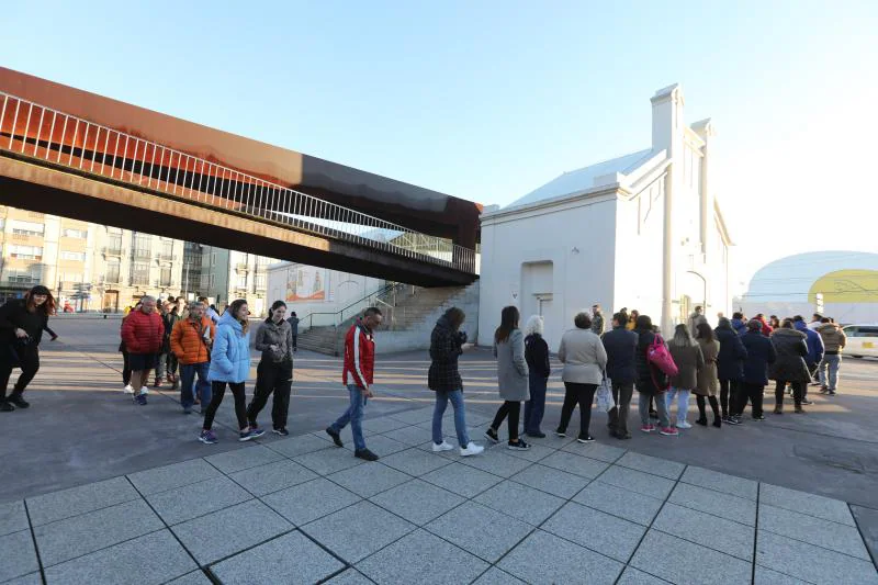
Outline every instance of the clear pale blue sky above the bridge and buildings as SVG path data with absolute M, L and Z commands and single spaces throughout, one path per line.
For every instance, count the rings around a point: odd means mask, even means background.
M 19 2 L 0 63 L 482 203 L 710 116 L 742 275 L 875 250 L 878 2 Z M 867 213 L 868 212 L 868 213 Z

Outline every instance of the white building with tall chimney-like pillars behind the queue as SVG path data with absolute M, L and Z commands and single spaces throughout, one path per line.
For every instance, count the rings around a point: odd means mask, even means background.
M 565 172 L 482 216 L 482 344 L 516 305 L 558 346 L 582 308 L 650 315 L 664 331 L 728 314 L 732 245 L 711 181 L 713 125 L 687 125 L 679 86 L 652 98 L 652 145 Z M 609 323 L 607 323 L 609 327 Z

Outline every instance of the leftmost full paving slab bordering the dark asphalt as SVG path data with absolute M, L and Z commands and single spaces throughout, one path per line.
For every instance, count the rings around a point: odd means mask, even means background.
M 27 510 L 34 526 L 53 522 L 87 511 L 137 499 L 139 494 L 125 477 L 71 487 L 27 498 Z

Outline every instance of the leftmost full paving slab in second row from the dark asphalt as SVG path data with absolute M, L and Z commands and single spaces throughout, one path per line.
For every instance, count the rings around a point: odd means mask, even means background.
M 165 528 L 143 499 L 34 528 L 40 558 L 52 566 Z

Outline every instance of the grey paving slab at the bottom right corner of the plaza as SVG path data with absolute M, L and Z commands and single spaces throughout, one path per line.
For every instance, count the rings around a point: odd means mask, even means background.
M 818 584 L 878 583 L 875 565 L 868 561 L 765 530 L 756 535 L 756 564 Z

